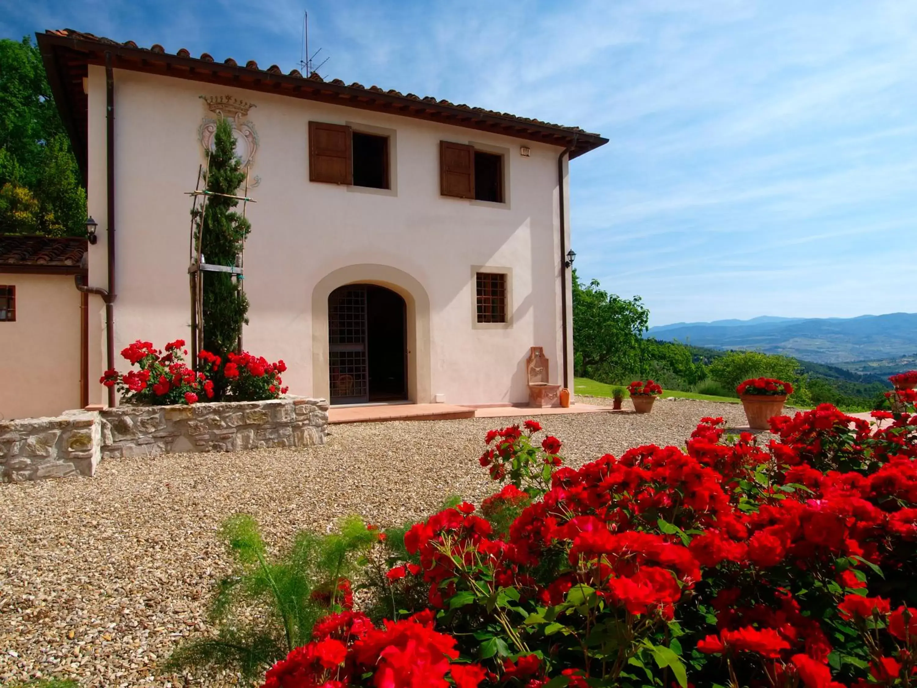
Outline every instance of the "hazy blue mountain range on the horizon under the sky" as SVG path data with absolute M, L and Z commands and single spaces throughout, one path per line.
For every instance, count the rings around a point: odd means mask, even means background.
M 780 353 L 819 363 L 872 361 L 917 352 L 917 313 L 674 323 L 650 327 L 646 337 L 713 349 Z

